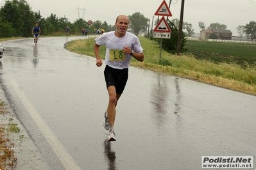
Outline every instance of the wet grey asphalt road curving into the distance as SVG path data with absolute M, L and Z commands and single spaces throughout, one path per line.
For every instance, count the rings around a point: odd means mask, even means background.
M 64 49 L 79 38 L 39 38 L 37 48 L 32 39 L 1 42 L 4 93 L 51 169 L 201 169 L 201 156 L 256 159 L 255 96 L 132 66 L 117 104 L 117 141 L 106 142 L 105 66 Z

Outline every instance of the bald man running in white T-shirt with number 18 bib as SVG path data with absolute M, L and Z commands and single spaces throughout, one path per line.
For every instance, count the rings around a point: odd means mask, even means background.
M 106 130 L 109 130 L 108 141 L 116 141 L 114 132 L 115 107 L 128 80 L 130 60 L 132 57 L 141 62 L 144 60 L 139 38 L 132 33 L 126 32 L 128 25 L 128 17 L 119 15 L 115 21 L 115 31 L 104 33 L 95 39 L 94 53 L 97 66 L 101 66 L 103 63 L 99 56 L 99 47 L 101 45 L 107 47 L 105 54 L 107 65 L 104 75 L 109 99 L 107 111 L 104 113 L 105 123 L 103 126 Z

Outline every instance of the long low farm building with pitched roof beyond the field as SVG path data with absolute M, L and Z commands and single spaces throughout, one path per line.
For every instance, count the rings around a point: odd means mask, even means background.
M 209 36 L 213 33 L 218 36 L 219 40 L 232 40 L 232 32 L 226 29 L 203 29 L 201 31 L 201 40 L 209 39 Z

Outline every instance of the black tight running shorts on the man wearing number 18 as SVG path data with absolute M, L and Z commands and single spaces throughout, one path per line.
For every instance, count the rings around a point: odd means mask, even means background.
M 107 88 L 109 86 L 115 86 L 117 94 L 122 94 L 128 80 L 128 68 L 119 70 L 106 65 L 104 70 L 105 81 Z

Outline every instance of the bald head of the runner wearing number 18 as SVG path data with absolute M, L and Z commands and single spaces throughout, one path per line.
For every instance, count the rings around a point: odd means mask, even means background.
M 117 22 L 115 22 L 116 36 L 124 36 L 129 26 L 128 17 L 121 15 L 118 17 Z

